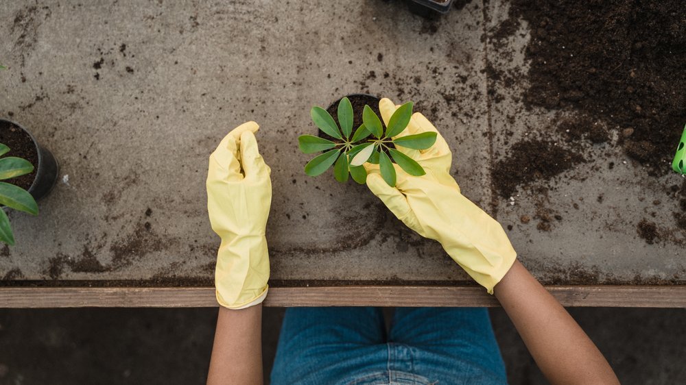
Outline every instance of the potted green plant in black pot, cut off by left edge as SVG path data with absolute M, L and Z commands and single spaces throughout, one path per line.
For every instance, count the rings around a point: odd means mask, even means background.
M 0 65 L 0 69 L 5 66 Z M 55 185 L 58 164 L 26 129 L 6 119 L 0 119 L 0 157 L 0 241 L 14 245 L 5 211 L 13 208 L 38 215 L 36 200 Z

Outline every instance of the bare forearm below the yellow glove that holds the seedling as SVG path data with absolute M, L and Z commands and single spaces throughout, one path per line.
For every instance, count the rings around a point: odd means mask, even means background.
M 550 382 L 619 384 L 578 323 L 519 261 L 495 286 L 494 293 Z

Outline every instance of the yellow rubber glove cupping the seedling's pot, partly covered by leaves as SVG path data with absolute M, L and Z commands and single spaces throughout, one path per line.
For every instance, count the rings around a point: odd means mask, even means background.
M 381 99 L 379 110 L 386 125 L 398 107 Z M 436 144 L 426 150 L 397 149 L 421 164 L 426 175 L 412 176 L 394 165 L 397 183 L 391 187 L 383 181 L 378 165 L 365 163 L 367 186 L 407 227 L 438 240 L 462 269 L 493 294 L 493 287 L 508 272 L 517 253 L 503 227 L 460 193 L 450 175 L 450 148 L 424 115 L 413 114 L 399 136 L 422 132 L 436 132 Z

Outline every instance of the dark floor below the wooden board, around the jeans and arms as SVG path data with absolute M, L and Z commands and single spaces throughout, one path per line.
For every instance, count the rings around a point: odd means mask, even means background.
M 683 309 L 571 308 L 622 384 L 686 377 Z M 0 310 L 0 385 L 204 384 L 215 309 Z M 265 308 L 270 373 L 283 309 Z M 491 310 L 513 385 L 545 384 L 506 314 Z

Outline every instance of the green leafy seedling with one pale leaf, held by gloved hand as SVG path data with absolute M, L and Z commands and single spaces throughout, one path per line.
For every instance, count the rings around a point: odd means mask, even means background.
M 435 132 L 399 136 L 412 118 L 412 101 L 401 105 L 391 116 L 386 129 L 381 119 L 369 105 L 362 111 L 362 125 L 353 134 L 353 105 L 344 97 L 338 103 L 338 122 L 321 107 L 313 107 L 310 116 L 314 124 L 324 134 L 334 138 L 328 140 L 313 135 L 301 135 L 298 138 L 300 151 L 316 153 L 323 151 L 305 165 L 305 173 L 315 177 L 327 171 L 333 165 L 333 176 L 338 182 L 346 182 L 348 175 L 359 184 L 366 182 L 365 162 L 379 164 L 381 177 L 389 186 L 395 186 L 397 164 L 410 175 L 424 175 L 420 164 L 395 147 L 423 150 L 436 142 Z M 372 138 L 369 138 L 372 136 Z

